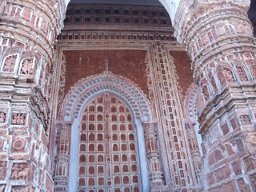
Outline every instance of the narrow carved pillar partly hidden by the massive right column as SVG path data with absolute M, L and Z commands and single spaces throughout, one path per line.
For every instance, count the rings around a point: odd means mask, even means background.
M 194 165 L 194 172 L 197 182 L 200 185 L 201 181 L 201 155 L 198 147 L 198 139 L 195 134 L 194 124 L 190 121 L 185 122 L 187 140 L 190 146 L 190 154 Z

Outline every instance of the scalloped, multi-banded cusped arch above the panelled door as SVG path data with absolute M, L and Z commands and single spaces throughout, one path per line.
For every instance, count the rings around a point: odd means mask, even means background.
M 140 118 L 142 122 L 154 121 L 150 102 L 142 90 L 129 79 L 106 72 L 80 80 L 66 95 L 60 111 L 60 118 L 65 121 L 78 118 L 86 101 L 89 102 L 90 98 L 106 92 L 114 94 L 126 102 L 135 118 Z

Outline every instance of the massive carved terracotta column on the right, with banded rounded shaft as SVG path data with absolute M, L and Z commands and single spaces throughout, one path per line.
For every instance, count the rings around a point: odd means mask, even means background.
M 174 27 L 201 88 L 202 187 L 254 191 L 256 47 L 250 0 L 181 1 Z

